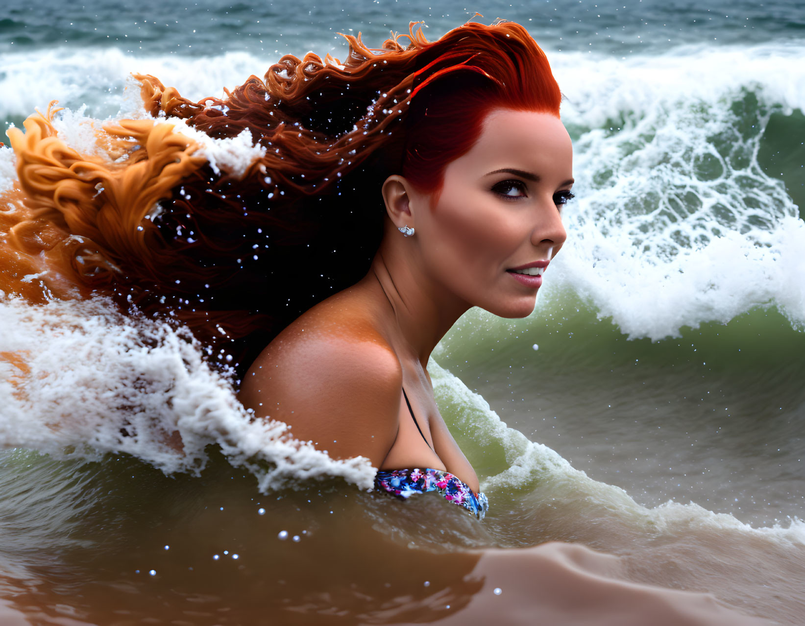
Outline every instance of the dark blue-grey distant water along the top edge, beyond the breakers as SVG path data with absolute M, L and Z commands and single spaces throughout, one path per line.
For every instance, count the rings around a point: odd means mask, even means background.
M 206 56 L 223 51 L 297 55 L 311 43 L 336 44 L 336 32 L 379 42 L 424 20 L 426 36 L 473 18 L 523 23 L 551 49 L 624 55 L 658 53 L 685 43 L 758 43 L 802 39 L 802 2 L 495 2 L 444 10 L 433 2 L 220 3 L 144 0 L 5 2 L 0 7 L 0 53 L 40 47 L 118 47 L 127 53 Z M 340 45 L 340 44 L 336 44 Z

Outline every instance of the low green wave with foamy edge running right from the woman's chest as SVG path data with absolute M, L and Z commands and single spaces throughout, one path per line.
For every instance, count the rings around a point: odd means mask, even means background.
M 451 430 L 475 467 L 484 467 L 481 489 L 502 503 L 517 501 L 526 520 L 539 523 L 545 507 L 577 507 L 582 525 L 596 526 L 596 520 L 617 525 L 622 533 L 638 539 L 652 534 L 684 537 L 691 530 L 734 531 L 772 542 L 805 545 L 805 521 L 791 518 L 756 528 L 729 513 L 714 513 L 695 502 L 668 500 L 649 508 L 638 504 L 624 489 L 590 478 L 564 457 L 542 443 L 535 443 L 520 431 L 506 426 L 480 394 L 436 361 L 428 364 L 440 411 L 449 415 Z M 525 504 L 523 504 L 525 503 Z M 559 504 L 560 503 L 560 504 Z M 559 514 L 567 522 L 567 517 Z M 534 533 L 525 533 L 526 542 Z

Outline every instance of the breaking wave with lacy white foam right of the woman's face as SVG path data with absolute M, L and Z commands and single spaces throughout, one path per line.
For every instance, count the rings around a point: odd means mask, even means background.
M 579 290 L 632 338 L 770 304 L 802 327 L 805 224 L 758 149 L 771 113 L 805 104 L 803 51 L 559 56 L 577 199 L 547 285 Z

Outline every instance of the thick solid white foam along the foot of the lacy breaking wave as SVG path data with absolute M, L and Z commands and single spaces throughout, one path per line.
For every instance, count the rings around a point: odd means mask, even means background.
M 599 319 L 611 318 L 632 339 L 679 336 L 682 327 L 727 323 L 771 304 L 793 327 L 805 324 L 805 223 L 798 218 L 786 217 L 774 231 L 752 238 L 725 233 L 654 264 L 630 254 L 625 234 L 603 235 L 592 224 L 569 229 L 577 240 L 552 268 L 557 284 L 592 299 Z

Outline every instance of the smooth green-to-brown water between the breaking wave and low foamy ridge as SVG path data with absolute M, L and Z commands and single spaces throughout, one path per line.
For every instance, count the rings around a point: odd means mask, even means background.
M 508 426 L 644 505 L 772 525 L 805 517 L 803 355 L 805 333 L 774 307 L 652 342 L 564 293 L 528 319 L 470 312 L 436 360 Z

